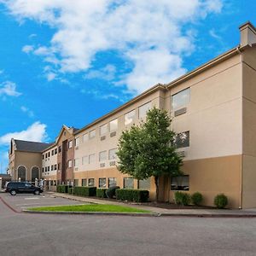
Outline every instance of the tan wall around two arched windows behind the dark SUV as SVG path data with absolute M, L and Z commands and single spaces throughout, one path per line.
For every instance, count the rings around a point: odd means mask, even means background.
M 41 178 L 42 169 L 42 154 L 32 152 L 21 152 L 15 151 L 15 175 L 12 177 L 13 180 L 18 180 L 18 167 L 26 167 L 26 180 L 31 180 L 31 170 L 33 166 L 39 168 L 39 178 Z

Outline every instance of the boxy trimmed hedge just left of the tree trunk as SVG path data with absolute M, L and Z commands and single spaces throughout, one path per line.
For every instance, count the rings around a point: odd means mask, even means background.
M 122 201 L 136 201 L 145 202 L 148 201 L 148 190 L 140 189 L 116 189 L 116 199 Z

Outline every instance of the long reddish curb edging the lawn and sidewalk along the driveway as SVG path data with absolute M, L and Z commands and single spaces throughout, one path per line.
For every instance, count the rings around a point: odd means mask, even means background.
M 183 217 L 183 218 L 256 218 L 256 214 L 233 214 L 233 213 L 145 213 L 145 212 L 49 212 L 49 211 L 32 211 L 22 210 L 24 213 L 40 213 L 40 214 L 69 214 L 69 215 L 102 215 L 102 216 L 132 216 L 132 217 Z

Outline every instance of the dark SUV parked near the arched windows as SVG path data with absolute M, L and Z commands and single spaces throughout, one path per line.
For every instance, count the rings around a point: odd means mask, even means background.
M 16 195 L 17 193 L 33 193 L 40 195 L 43 189 L 27 182 L 9 182 L 5 185 L 5 191 L 9 192 L 10 195 Z

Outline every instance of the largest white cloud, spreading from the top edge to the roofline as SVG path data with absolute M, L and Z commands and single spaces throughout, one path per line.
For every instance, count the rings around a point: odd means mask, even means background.
M 96 54 L 117 50 L 133 69 L 122 82 L 137 92 L 185 72 L 183 55 L 194 37 L 186 25 L 218 14 L 222 0 L 3 0 L 19 20 L 46 23 L 56 32 L 40 55 L 55 72 L 91 70 Z M 150 60 L 150 61 L 148 61 Z M 161 70 L 163 68 L 163 70 Z

